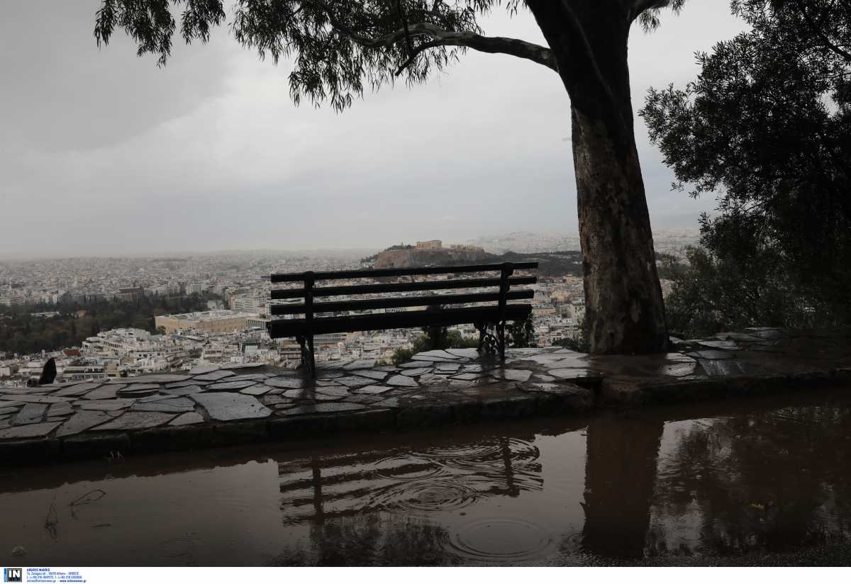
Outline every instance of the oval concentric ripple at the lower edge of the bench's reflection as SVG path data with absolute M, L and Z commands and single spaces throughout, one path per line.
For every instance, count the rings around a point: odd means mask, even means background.
M 418 480 L 393 485 L 380 491 L 369 507 L 388 511 L 436 512 L 455 511 L 476 502 L 476 490 L 448 480 Z

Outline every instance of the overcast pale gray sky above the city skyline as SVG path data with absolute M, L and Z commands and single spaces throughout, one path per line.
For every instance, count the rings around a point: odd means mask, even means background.
M 288 96 L 286 62 L 175 39 L 164 69 L 117 33 L 100 0 L 3 0 L 0 256 L 386 247 L 576 230 L 568 95 L 557 74 L 469 52 L 426 85 L 383 88 L 341 114 Z M 489 35 L 543 43 L 528 14 Z M 727 0 L 692 0 L 630 44 L 635 109 L 683 85 L 694 51 L 742 29 Z M 654 228 L 691 227 L 714 201 L 672 193 L 636 122 Z

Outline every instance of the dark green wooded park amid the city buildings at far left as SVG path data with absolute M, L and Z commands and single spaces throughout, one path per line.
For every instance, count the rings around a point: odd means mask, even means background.
M 180 314 L 207 309 L 208 297 L 146 296 L 134 302 L 108 300 L 96 303 L 59 303 L 0 309 L 0 350 L 30 354 L 79 346 L 86 337 L 113 328 L 134 327 L 148 332 L 155 315 Z M 53 318 L 31 312 L 58 311 Z M 77 314 L 79 311 L 79 315 Z

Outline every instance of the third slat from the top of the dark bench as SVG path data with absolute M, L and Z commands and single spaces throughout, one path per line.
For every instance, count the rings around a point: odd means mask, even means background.
M 368 298 L 364 300 L 343 300 L 340 302 L 318 302 L 313 303 L 313 314 L 351 310 L 398 309 L 410 306 L 499 302 L 500 298 L 499 292 L 477 292 L 473 294 L 437 294 L 434 296 L 403 296 L 401 298 Z M 505 294 L 505 300 L 525 300 L 529 298 L 534 298 L 534 290 L 517 290 Z M 303 315 L 306 314 L 306 309 L 306 303 L 274 304 L 271 307 L 271 314 Z

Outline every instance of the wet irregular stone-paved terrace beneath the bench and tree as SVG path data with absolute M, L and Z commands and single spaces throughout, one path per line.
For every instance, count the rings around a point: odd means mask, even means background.
M 0 388 L 0 464 L 191 450 L 534 415 L 851 387 L 851 332 L 751 328 L 678 352 L 591 356 L 509 349 L 429 351 L 299 371 L 200 366 L 107 383 Z

